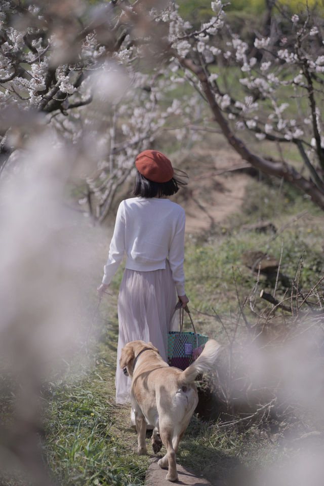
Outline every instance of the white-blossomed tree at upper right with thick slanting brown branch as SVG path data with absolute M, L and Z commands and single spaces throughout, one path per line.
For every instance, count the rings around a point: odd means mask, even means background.
M 192 31 L 177 14 L 170 12 L 169 41 L 179 65 L 205 97 L 216 123 L 230 145 L 260 171 L 290 181 L 324 209 L 324 138 L 321 103 L 324 47 L 320 17 L 306 10 L 303 19 L 294 14 L 285 20 L 282 36 L 280 19 L 273 22 L 268 37 L 255 36 L 254 45 L 240 39 L 226 25 L 222 2 L 212 2 L 215 12 L 199 31 Z M 222 33 L 227 32 L 225 36 Z M 219 67 L 216 72 L 210 68 Z M 218 83 L 229 68 L 238 73 L 232 92 Z M 273 142 L 279 158 L 252 152 L 248 140 L 238 138 L 245 131 L 260 141 Z M 294 144 L 307 167 L 308 175 L 290 165 L 282 156 L 283 144 Z M 261 152 L 261 150 L 260 150 Z M 261 152 L 262 153 L 262 152 Z

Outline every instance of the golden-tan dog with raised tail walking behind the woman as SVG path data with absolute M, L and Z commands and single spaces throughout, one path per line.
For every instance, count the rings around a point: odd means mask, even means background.
M 146 424 L 154 426 L 152 447 L 158 453 L 162 444 L 167 454 L 158 461 L 168 468 L 166 479 L 177 481 L 176 453 L 179 441 L 197 406 L 194 380 L 210 371 L 221 346 L 210 339 L 200 356 L 185 370 L 170 367 L 152 343 L 132 341 L 122 350 L 120 368 L 132 378 L 131 402 L 135 411 L 138 453 L 147 454 Z

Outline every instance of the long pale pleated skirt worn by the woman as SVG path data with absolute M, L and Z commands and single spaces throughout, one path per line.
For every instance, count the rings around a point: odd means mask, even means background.
M 150 341 L 167 360 L 168 332 L 175 326 L 176 303 L 176 288 L 168 260 L 162 270 L 125 270 L 118 295 L 117 403 L 130 401 L 131 388 L 131 379 L 119 368 L 121 349 L 137 339 Z

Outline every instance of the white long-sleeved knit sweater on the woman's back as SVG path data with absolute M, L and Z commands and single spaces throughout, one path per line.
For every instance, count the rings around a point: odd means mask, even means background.
M 121 201 L 103 284 L 110 284 L 126 252 L 126 268 L 130 270 L 166 268 L 169 258 L 177 293 L 184 295 L 184 229 L 184 210 L 169 199 L 133 197 Z

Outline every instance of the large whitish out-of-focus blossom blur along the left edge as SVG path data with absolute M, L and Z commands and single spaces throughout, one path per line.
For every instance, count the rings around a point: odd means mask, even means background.
M 90 258 L 63 205 L 76 153 L 52 135 L 14 152 L 0 193 L 0 391 L 14 396 L 12 416 L 0 424 L 0 469 L 21 468 L 42 486 L 50 481 L 38 451 L 39 389 L 85 340 L 78 293 Z

